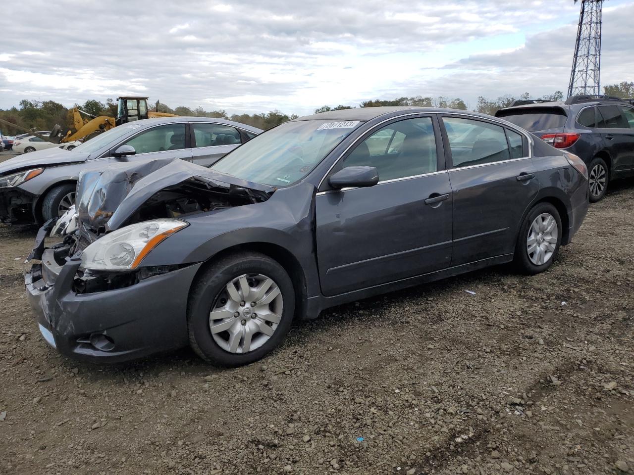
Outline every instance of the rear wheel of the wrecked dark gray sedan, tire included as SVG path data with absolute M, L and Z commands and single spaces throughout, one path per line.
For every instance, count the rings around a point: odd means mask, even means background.
M 524 274 L 548 269 L 557 257 L 562 236 L 561 218 L 550 203 L 539 203 L 526 215 L 515 245 L 515 265 Z

